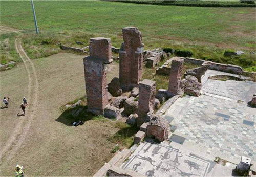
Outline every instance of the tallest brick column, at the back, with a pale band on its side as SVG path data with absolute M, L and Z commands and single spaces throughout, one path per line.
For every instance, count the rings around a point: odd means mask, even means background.
M 119 50 L 119 79 L 122 89 L 129 90 L 139 86 L 144 45 L 138 28 L 125 27 L 122 32 L 124 42 Z

